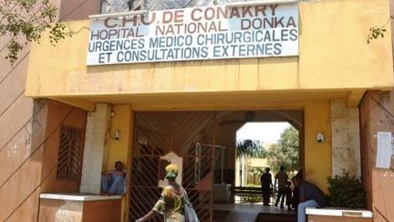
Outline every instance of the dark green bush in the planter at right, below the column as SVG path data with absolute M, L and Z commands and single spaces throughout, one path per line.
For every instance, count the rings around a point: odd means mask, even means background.
M 328 177 L 328 205 L 360 209 L 367 207 L 367 197 L 361 181 L 349 174 Z

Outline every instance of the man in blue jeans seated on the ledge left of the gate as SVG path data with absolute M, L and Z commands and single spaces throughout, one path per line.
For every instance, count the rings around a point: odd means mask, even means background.
M 105 195 L 123 195 L 126 193 L 126 170 L 120 161 L 115 163 L 115 170 L 101 175 L 101 192 Z

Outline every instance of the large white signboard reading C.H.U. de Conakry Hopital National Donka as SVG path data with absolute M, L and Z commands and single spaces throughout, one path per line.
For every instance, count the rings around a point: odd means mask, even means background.
M 298 5 L 207 6 L 91 21 L 88 65 L 298 55 Z

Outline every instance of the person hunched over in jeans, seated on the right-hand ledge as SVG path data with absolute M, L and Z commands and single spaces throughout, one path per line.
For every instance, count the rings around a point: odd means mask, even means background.
M 306 207 L 327 206 L 326 196 L 319 187 L 309 182 L 302 182 L 298 176 L 294 178 L 294 183 L 299 187 L 298 222 L 306 222 Z

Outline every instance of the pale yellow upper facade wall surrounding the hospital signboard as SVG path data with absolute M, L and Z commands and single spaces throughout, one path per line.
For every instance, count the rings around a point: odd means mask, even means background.
M 389 0 L 299 3 L 299 57 L 86 66 L 89 21 L 57 47 L 30 53 L 26 95 L 387 89 L 393 84 L 391 29 L 366 43 L 369 27 L 389 19 Z

